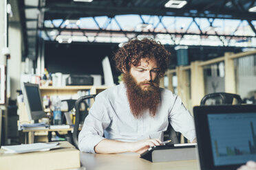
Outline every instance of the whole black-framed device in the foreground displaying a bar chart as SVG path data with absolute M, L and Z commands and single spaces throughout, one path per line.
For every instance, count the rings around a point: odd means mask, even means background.
M 196 106 L 193 114 L 202 170 L 256 161 L 256 105 Z

